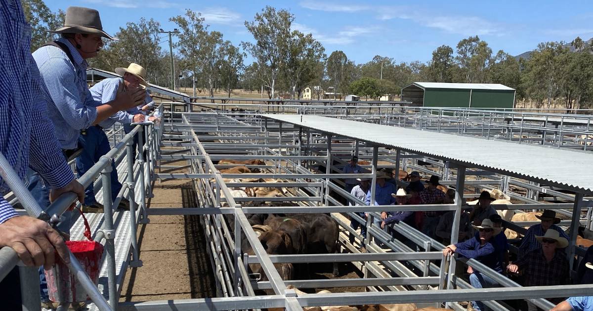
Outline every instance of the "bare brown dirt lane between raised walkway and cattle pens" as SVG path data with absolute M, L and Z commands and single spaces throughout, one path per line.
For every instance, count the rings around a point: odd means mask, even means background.
M 153 192 L 149 208 L 197 206 L 187 179 L 157 181 Z M 149 218 L 151 222 L 138 229 L 139 256 L 144 265 L 127 271 L 120 301 L 215 297 L 212 268 L 197 216 Z

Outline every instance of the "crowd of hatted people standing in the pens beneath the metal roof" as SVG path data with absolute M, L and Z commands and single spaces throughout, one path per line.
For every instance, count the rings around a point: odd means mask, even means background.
M 353 165 L 356 158 L 349 163 Z M 347 166 L 347 165 L 346 165 Z M 346 170 L 344 170 L 346 172 Z M 350 169 L 349 172 L 353 172 Z M 361 171 L 362 172 L 362 171 Z M 445 193 L 439 188 L 439 178 L 432 175 L 426 181 L 426 187 L 420 181 L 419 172 L 409 174 L 410 182 L 405 188 L 398 188 L 396 180 L 390 172 L 378 171 L 376 175 L 375 205 L 419 205 L 419 204 L 452 204 L 454 203 L 455 190 L 448 189 Z M 350 194 L 365 204 L 371 203 L 371 185 L 369 178 L 359 178 L 359 184 L 351 188 Z M 478 203 L 470 211 L 461 210 L 458 230 L 458 243 L 451 243 L 451 231 L 455 218 L 455 211 L 382 211 L 380 219 L 375 219 L 375 226 L 387 230 L 393 223 L 404 222 L 414 227 L 436 241 L 447 245 L 443 250 L 444 255 L 457 254 L 459 257 L 476 259 L 481 264 L 508 277 L 514 278 L 523 286 L 554 286 L 570 284 L 569 261 L 565 252 L 568 246 L 568 236 L 557 226 L 560 219 L 553 210 L 544 210 L 541 216 L 536 216 L 541 223 L 531 226 L 518 246 L 517 259 L 510 260 L 509 243 L 502 226 L 502 217 L 490 206 L 495 199 L 487 191 L 482 191 Z M 350 205 L 358 205 L 352 202 Z M 366 220 L 368 213 L 358 213 Z M 376 217 L 375 217 L 376 218 Z M 358 220 L 352 219 L 350 226 L 353 229 L 361 227 L 364 238 L 361 251 L 365 251 L 366 226 Z M 401 233 L 391 230 L 391 235 L 400 242 L 416 250 L 416 245 L 406 239 Z M 350 242 L 355 236 L 350 234 Z M 382 246 L 381 242 L 377 244 Z M 589 248 L 587 256 L 579 267 L 576 284 L 593 284 L 593 248 Z M 461 267 L 461 266 L 458 266 Z M 466 271 L 471 286 L 474 288 L 498 287 L 499 284 L 487 273 L 480 272 L 468 265 Z M 562 299 L 550 299 L 559 303 L 555 310 L 593 310 L 593 298 L 571 297 L 563 302 Z M 471 307 L 476 311 L 489 309 L 483 302 L 471 302 Z M 537 306 L 527 302 L 525 309 L 537 310 Z

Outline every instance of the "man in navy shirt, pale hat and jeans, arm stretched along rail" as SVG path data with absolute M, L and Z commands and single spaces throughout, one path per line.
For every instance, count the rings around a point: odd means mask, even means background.
M 474 229 L 479 231 L 479 235 L 468 239 L 465 242 L 449 245 L 443 249 L 443 255 L 457 253 L 465 258 L 473 258 L 492 270 L 501 273 L 502 262 L 500 262 L 499 254 L 493 244 L 493 237 L 500 233 L 500 228 L 495 227 L 490 219 L 484 219 L 479 225 L 471 225 Z M 470 274 L 470 284 L 475 288 L 489 288 L 498 285 L 495 280 L 483 274 L 480 271 L 472 270 Z M 482 302 L 471 302 L 474 310 L 484 310 Z

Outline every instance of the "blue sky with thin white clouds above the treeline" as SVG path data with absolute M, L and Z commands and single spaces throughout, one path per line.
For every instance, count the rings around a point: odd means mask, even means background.
M 210 30 L 221 31 L 234 44 L 251 41 L 244 21 L 266 5 L 288 9 L 293 27 L 313 33 L 329 55 L 343 50 L 365 63 L 375 55 L 396 62 L 426 62 L 442 44 L 455 49 L 461 39 L 478 35 L 492 48 L 512 55 L 543 41 L 593 37 L 593 4 L 589 1 L 186 1 L 186 0 L 46 0 L 56 11 L 69 5 L 98 9 L 104 30 L 114 34 L 128 21 L 154 18 L 165 30 L 168 18 L 190 8 L 202 12 Z M 568 5 L 569 4 L 569 5 Z M 166 43 L 163 43 L 163 47 Z

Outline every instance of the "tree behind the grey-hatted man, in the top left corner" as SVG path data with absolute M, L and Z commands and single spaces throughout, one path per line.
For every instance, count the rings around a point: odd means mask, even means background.
M 54 13 L 43 0 L 21 0 L 25 20 L 31 25 L 31 51 L 55 40 L 58 35 L 49 33 L 64 25 L 66 14 L 61 9 Z

